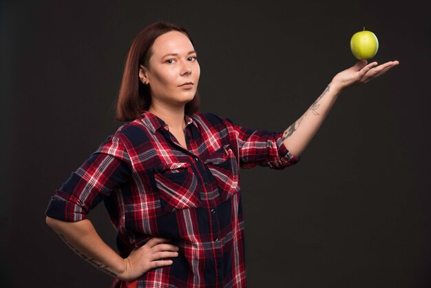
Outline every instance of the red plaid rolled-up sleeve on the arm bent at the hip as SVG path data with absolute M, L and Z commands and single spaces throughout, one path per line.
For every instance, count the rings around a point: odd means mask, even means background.
M 127 182 L 132 165 L 125 145 L 116 136 L 108 136 L 96 152 L 56 190 L 46 216 L 76 222 L 87 218 L 90 210 Z

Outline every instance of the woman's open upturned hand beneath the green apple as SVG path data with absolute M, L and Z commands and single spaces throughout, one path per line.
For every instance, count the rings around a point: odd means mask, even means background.
M 372 62 L 368 65 L 367 63 L 368 62 L 366 60 L 361 60 L 356 63 L 356 65 L 339 72 L 333 78 L 331 87 L 335 85 L 339 90 L 343 90 L 349 86 L 367 83 L 368 81 L 385 74 L 392 67 L 397 66 L 399 61 L 389 61 L 378 66 L 377 62 Z

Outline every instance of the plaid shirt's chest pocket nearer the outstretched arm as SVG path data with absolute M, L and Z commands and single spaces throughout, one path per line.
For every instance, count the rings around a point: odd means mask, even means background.
M 229 144 L 211 154 L 204 161 L 220 188 L 222 200 L 240 192 L 238 161 Z

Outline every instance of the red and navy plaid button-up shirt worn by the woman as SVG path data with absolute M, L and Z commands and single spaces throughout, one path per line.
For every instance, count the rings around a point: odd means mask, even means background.
M 138 287 L 246 287 L 239 168 L 284 169 L 297 158 L 281 132 L 202 112 L 185 120 L 187 150 L 149 112 L 119 127 L 56 190 L 46 214 L 83 220 L 103 200 L 124 258 L 154 236 L 170 238 L 179 256 Z

